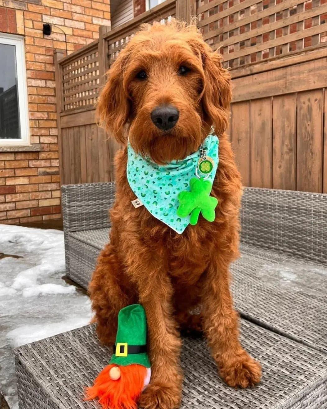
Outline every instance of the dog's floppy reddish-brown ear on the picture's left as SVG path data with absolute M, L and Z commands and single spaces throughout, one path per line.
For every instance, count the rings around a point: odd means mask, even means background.
M 107 83 L 101 91 L 96 108 L 101 126 L 121 144 L 126 143 L 125 125 L 130 115 L 130 101 L 123 87 L 126 63 L 127 54 L 122 50 L 107 72 Z

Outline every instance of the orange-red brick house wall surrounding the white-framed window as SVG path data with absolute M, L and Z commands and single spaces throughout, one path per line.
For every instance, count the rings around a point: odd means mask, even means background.
M 30 141 L 40 144 L 38 152 L 0 150 L 0 223 L 61 217 L 54 50 L 66 50 L 60 29 L 68 53 L 98 38 L 110 25 L 109 2 L 0 0 L 0 31 L 25 36 Z M 45 22 L 60 29 L 43 36 Z

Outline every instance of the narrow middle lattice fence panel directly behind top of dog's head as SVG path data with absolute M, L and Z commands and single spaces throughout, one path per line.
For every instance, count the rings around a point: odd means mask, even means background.
M 159 21 L 161 24 L 165 24 L 167 21 L 170 21 L 172 17 L 175 17 L 175 7 L 172 9 L 168 9 L 167 11 L 160 13 L 158 16 L 154 13 L 150 19 L 144 21 L 147 23 L 152 23 L 154 21 Z M 138 26 L 131 27 L 130 30 L 126 30 L 121 33 L 120 36 L 115 38 L 110 38 L 108 41 L 108 57 L 109 57 L 109 66 L 114 62 L 117 58 L 121 49 L 125 47 L 125 45 L 134 37 L 134 33 Z

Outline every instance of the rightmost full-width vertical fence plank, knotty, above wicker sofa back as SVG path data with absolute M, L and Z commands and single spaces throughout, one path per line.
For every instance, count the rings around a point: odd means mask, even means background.
M 296 189 L 323 189 L 323 90 L 298 93 Z

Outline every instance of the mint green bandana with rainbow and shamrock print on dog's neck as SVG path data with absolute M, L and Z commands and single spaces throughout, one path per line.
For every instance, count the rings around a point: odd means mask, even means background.
M 209 135 L 202 146 L 206 155 L 213 159 L 213 169 L 205 176 L 212 187 L 219 161 L 219 140 L 215 135 Z M 132 191 L 152 216 L 178 234 L 183 233 L 190 224 L 190 215 L 184 218 L 177 216 L 177 196 L 181 191 L 190 191 L 190 179 L 195 177 L 201 157 L 200 150 L 183 160 L 175 160 L 164 166 L 135 153 L 129 142 L 127 152 L 127 180 Z

